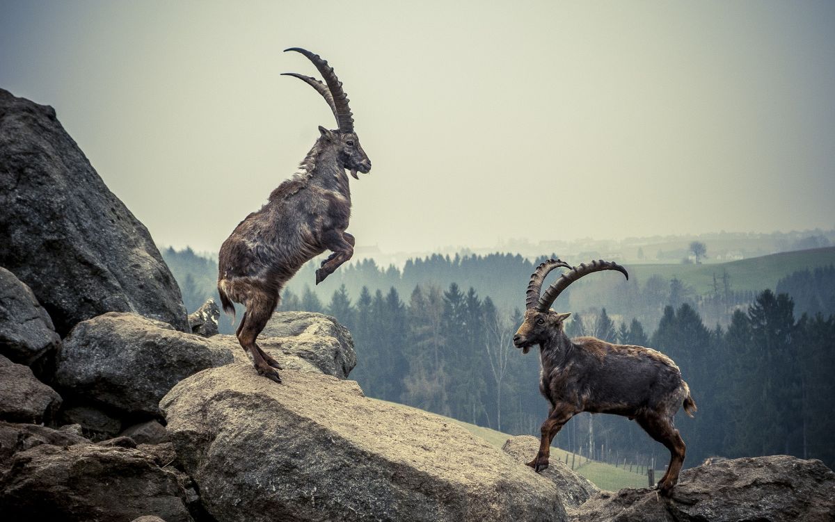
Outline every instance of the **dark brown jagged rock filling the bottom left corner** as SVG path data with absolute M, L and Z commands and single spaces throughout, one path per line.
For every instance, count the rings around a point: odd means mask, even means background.
M 139 449 L 41 444 L 0 479 L 0 513 L 17 520 L 123 522 L 154 514 L 190 522 L 184 478 Z

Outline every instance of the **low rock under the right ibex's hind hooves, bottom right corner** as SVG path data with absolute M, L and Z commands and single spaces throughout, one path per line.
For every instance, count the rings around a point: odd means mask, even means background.
M 729 459 L 686 469 L 671 498 L 650 489 L 601 492 L 576 522 L 824 522 L 835 519 L 835 473 L 787 455 Z

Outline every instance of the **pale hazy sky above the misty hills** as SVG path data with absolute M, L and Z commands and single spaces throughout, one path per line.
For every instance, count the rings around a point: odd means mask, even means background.
M 0 1 L 0 88 L 52 105 L 160 245 L 216 251 L 335 127 L 388 252 L 835 227 L 832 2 Z

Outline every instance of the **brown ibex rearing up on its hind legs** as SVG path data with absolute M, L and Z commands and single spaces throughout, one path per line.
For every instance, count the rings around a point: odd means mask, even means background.
M 342 82 L 319 55 L 290 48 L 305 55 L 321 73 L 325 83 L 296 73 L 325 98 L 339 128 L 319 127 L 321 136 L 301 162 L 302 173 L 288 179 L 270 194 L 261 210 L 251 213 L 235 227 L 220 247 L 217 289 L 227 313 L 235 303 L 246 312 L 235 335 L 240 346 L 252 355 L 261 375 L 281 383 L 276 369 L 281 366 L 256 344 L 279 303 L 286 282 L 311 258 L 325 250 L 330 257 L 316 270 L 316 284 L 351 258 L 354 237 L 345 231 L 351 217 L 351 191 L 345 169 L 357 178 L 367 173 L 371 161 L 354 133 L 354 120 Z M 359 179 L 359 178 L 357 178 Z

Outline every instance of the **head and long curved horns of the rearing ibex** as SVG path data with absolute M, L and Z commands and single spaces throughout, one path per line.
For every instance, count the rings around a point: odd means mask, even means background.
M 322 139 L 325 142 L 337 149 L 337 158 L 342 168 L 347 168 L 351 171 L 351 175 L 357 177 L 357 171 L 361 173 L 368 173 L 371 170 L 371 160 L 368 159 L 365 151 L 362 150 L 360 140 L 357 138 L 357 133 L 354 132 L 354 118 L 351 113 L 351 108 L 348 107 L 348 97 L 345 91 L 342 90 L 342 82 L 337 78 L 337 74 L 333 72 L 333 68 L 328 66 L 327 62 L 323 60 L 318 54 L 311 53 L 302 48 L 289 48 L 287 51 L 296 51 L 296 53 L 304 54 L 316 66 L 321 73 L 322 78 L 325 78 L 325 83 L 321 83 L 316 78 L 311 76 L 304 76 L 298 73 L 284 73 L 286 76 L 294 76 L 304 81 L 312 88 L 320 93 L 322 98 L 325 98 L 328 106 L 333 111 L 334 117 L 337 118 L 336 130 L 328 130 L 324 127 L 319 127 Z

